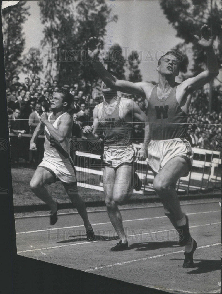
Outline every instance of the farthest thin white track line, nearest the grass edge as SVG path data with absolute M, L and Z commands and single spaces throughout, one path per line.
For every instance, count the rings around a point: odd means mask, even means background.
M 196 205 L 196 204 L 209 204 L 209 203 L 220 203 L 219 201 L 211 201 L 211 202 L 195 202 L 195 203 L 180 203 L 180 206 L 184 206 L 184 205 Z M 152 205 L 152 206 L 143 206 L 143 207 L 127 207 L 127 208 L 119 208 L 120 211 L 124 211 L 124 210 L 132 210 L 132 209 L 144 209 L 144 208 L 158 208 L 158 207 L 163 207 L 163 204 L 158 204 L 158 205 Z M 102 209 L 102 210 L 91 210 L 91 211 L 87 211 L 87 213 L 96 213 L 96 212 L 107 212 L 106 209 Z M 58 213 L 58 216 L 68 216 L 68 215 L 72 215 L 72 214 L 79 214 L 78 212 L 65 212 L 65 213 Z M 50 214 L 40 214 L 40 215 L 35 215 L 35 216 L 16 216 L 15 220 L 17 219 L 22 219 L 22 218 L 42 218 L 42 217 L 47 217 L 50 216 Z

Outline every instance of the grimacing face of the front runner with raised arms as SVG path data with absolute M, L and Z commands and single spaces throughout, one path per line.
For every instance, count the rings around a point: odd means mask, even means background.
M 177 76 L 179 74 L 179 65 L 176 56 L 171 54 L 163 56 L 157 70 L 160 74 Z

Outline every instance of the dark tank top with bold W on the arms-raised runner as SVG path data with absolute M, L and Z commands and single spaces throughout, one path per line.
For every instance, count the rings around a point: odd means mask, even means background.
M 151 140 L 169 140 L 184 138 L 187 132 L 188 115 L 182 111 L 176 100 L 177 85 L 171 89 L 168 97 L 159 99 L 157 86 L 152 90 L 148 101 L 147 117 Z

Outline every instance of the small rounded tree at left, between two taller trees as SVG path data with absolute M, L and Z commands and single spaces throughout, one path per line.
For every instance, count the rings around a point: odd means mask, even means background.
M 31 47 L 22 60 L 22 71 L 25 74 L 33 73 L 38 75 L 43 69 L 43 58 L 40 56 L 40 50 Z

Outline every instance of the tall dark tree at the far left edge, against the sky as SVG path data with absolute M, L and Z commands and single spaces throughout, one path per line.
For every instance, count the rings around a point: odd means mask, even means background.
M 30 15 L 30 6 L 26 6 L 26 2 L 20 1 L 15 6 L 2 9 L 5 74 L 8 80 L 18 75 L 22 66 L 21 54 L 25 47 L 22 25 Z

